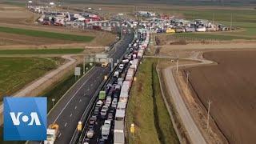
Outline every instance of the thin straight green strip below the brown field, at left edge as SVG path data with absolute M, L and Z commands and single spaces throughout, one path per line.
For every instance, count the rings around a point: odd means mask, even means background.
M 84 49 L 0 50 L 0 54 L 78 54 Z

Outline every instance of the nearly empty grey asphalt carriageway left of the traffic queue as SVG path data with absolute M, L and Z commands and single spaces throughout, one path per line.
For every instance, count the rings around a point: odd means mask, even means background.
M 121 58 L 126 51 L 129 43 L 133 40 L 133 34 L 126 34 L 118 42 L 115 50 L 112 51 L 111 58 L 114 62 Z M 96 66 L 85 76 L 83 76 L 54 106 L 54 109 L 48 114 L 48 125 L 56 122 L 59 125 L 60 134 L 54 143 L 70 143 L 72 135 L 78 126 L 78 122 L 83 112 L 88 108 L 98 86 L 102 83 L 104 75 L 110 72 L 110 66 L 103 68 Z

